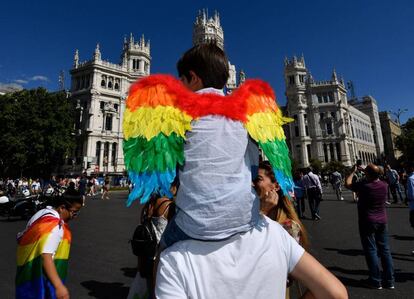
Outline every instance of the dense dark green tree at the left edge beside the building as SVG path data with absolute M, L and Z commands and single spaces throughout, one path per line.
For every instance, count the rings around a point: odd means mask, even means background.
M 0 96 L 0 176 L 49 176 L 75 145 L 74 107 L 44 88 Z

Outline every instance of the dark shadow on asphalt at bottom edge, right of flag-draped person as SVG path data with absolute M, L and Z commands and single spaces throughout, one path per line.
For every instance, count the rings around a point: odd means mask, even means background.
M 90 291 L 89 296 L 98 299 L 126 298 L 129 291 L 129 287 L 120 282 L 88 280 L 81 282 L 81 285 Z

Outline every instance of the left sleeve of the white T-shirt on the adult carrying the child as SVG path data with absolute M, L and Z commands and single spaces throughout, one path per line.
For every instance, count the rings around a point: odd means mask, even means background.
M 157 270 L 157 284 L 155 298 L 157 299 L 187 299 L 180 271 L 174 261 L 174 256 L 161 254 Z

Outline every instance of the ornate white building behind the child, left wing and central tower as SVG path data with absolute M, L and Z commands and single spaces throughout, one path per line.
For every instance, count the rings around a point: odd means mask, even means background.
M 209 18 L 200 11 L 193 27 L 193 44 L 216 41 L 224 47 L 224 33 L 220 17 Z M 236 67 L 229 63 L 230 78 L 227 90 L 237 87 Z M 124 39 L 120 63 L 101 57 L 99 44 L 92 59 L 79 61 L 76 50 L 71 74 L 71 98 L 77 103 L 74 165 L 71 172 L 86 171 L 103 174 L 122 174 L 125 170 L 122 151 L 122 117 L 130 85 L 148 76 L 151 69 L 150 42 L 141 37 Z M 243 71 L 239 81 L 245 80 Z

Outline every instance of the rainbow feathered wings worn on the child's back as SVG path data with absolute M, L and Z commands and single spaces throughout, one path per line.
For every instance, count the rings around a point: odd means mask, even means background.
M 241 121 L 269 159 L 284 194 L 293 190 L 291 162 L 272 88 L 246 80 L 231 95 L 197 94 L 168 75 L 152 75 L 134 83 L 123 119 L 124 160 L 134 189 L 127 205 L 145 203 L 154 192 L 171 196 L 176 168 L 184 164 L 185 134 L 191 122 L 206 115 Z

